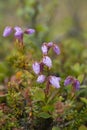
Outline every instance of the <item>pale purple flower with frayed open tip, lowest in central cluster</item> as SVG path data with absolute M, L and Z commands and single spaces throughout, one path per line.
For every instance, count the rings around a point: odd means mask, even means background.
M 60 88 L 60 82 L 61 78 L 60 77 L 56 77 L 56 76 L 50 76 L 49 77 L 49 82 L 51 85 L 53 85 L 55 88 Z

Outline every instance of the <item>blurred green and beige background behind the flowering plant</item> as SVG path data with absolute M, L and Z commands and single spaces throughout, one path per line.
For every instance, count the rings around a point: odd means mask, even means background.
M 13 37 L 2 36 L 6 26 L 35 28 L 35 35 L 25 36 L 25 41 L 30 49 L 37 48 L 37 55 L 43 42 L 56 42 L 61 56 L 54 59 L 53 71 L 60 76 L 84 75 L 83 84 L 87 83 L 87 0 L 0 0 L 1 84 L 13 71 L 6 60 L 14 49 Z

